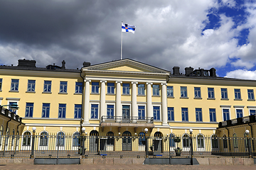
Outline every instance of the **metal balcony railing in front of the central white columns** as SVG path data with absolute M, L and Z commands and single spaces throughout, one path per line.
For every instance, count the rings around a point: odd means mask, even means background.
M 153 117 L 102 115 L 102 123 L 154 123 Z

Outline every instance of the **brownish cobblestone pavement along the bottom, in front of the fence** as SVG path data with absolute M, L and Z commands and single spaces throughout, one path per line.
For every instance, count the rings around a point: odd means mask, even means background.
M 0 169 L 232 169 L 232 170 L 250 170 L 256 169 L 253 166 L 226 166 L 226 165 L 28 165 L 28 164 L 8 164 L 0 165 Z

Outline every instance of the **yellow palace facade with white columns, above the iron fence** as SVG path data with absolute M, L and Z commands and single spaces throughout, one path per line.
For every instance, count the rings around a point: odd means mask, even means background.
M 136 136 L 147 128 L 152 137 L 189 135 L 190 129 L 210 136 L 218 122 L 255 114 L 256 81 L 217 77 L 213 68 L 185 71 L 129 59 L 84 62 L 82 69 L 66 69 L 64 61 L 41 68 L 18 60 L 17 66 L 0 66 L 0 103 L 18 104 L 15 113 L 25 123 L 19 135 L 36 127 L 48 135 L 85 128 L 87 136 Z

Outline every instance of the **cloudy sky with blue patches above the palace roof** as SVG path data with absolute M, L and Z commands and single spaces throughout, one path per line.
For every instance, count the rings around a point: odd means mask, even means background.
M 255 25 L 255 0 L 0 0 L 0 64 L 120 60 L 122 35 L 123 59 L 256 79 Z

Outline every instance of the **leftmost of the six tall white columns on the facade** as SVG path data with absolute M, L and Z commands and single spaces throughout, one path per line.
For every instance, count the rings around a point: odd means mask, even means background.
M 90 118 L 90 80 L 85 80 L 85 98 L 84 98 L 84 123 L 89 124 Z

